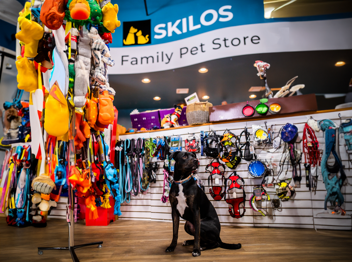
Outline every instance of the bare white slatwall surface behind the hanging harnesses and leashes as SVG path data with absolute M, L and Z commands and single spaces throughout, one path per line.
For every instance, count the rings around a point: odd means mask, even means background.
M 320 113 L 312 115 L 315 120 L 320 119 L 331 119 L 337 124 L 340 124 L 341 117 L 352 117 L 352 110 L 340 111 L 340 112 L 330 112 L 330 113 Z M 216 131 L 217 134 L 223 134 L 226 129 L 231 130 L 235 135 L 240 135 L 243 128 L 246 126 L 248 131 L 252 133 L 252 124 L 260 124 L 265 127 L 265 121 L 268 127 L 273 125 L 274 132 L 278 132 L 279 129 L 286 123 L 295 124 L 298 128 L 300 137 L 302 137 L 304 123 L 307 122 L 311 115 L 294 116 L 294 117 L 282 117 L 276 119 L 267 120 L 256 120 L 256 121 L 244 121 L 244 122 L 234 122 L 234 123 L 222 123 L 222 124 L 211 124 L 209 126 L 199 126 L 199 127 L 188 127 L 181 129 L 171 129 L 156 131 L 150 133 L 136 133 L 120 135 L 120 139 L 132 139 L 132 138 L 156 138 L 157 136 L 176 136 L 181 135 L 182 137 L 182 149 L 184 150 L 184 139 L 186 139 L 189 134 L 200 135 L 200 131 L 209 132 L 211 130 Z M 276 136 L 276 135 L 275 135 Z M 325 138 L 323 137 L 323 132 L 316 133 L 319 140 L 319 148 L 325 147 Z M 251 136 L 252 140 L 252 136 Z M 244 142 L 244 137 L 241 142 Z M 296 227 L 296 228 L 316 228 L 316 229 L 351 229 L 351 215 L 352 215 L 352 186 L 348 181 L 352 181 L 352 165 L 348 161 L 349 156 L 346 152 L 344 145 L 345 141 L 340 140 L 340 154 L 342 162 L 345 165 L 345 172 L 347 179 L 345 181 L 345 186 L 342 187 L 342 193 L 344 194 L 345 204 L 343 208 L 346 210 L 346 216 L 331 215 L 324 211 L 324 199 L 326 196 L 325 186 L 322 183 L 322 177 L 320 169 L 318 170 L 319 183 L 316 193 L 310 192 L 305 184 L 305 169 L 303 164 L 301 165 L 302 170 L 302 181 L 301 186 L 296 188 L 296 196 L 294 200 L 288 200 L 282 202 L 282 211 L 278 212 L 272 209 L 271 202 L 259 202 L 262 204 L 262 208 L 266 207 L 268 211 L 268 216 L 263 217 L 260 213 L 253 212 L 249 206 L 249 202 L 246 201 L 246 213 L 245 216 L 239 219 L 232 218 L 228 213 L 228 204 L 225 200 L 214 201 L 209 194 L 207 178 L 209 173 L 205 173 L 205 167 L 212 161 L 212 159 L 207 159 L 206 157 L 199 155 L 200 168 L 198 177 L 202 179 L 203 184 L 206 185 L 206 194 L 209 200 L 214 205 L 216 212 L 218 213 L 220 222 L 222 225 L 242 225 L 242 226 L 272 226 L 272 227 Z M 302 143 L 296 144 L 296 148 L 302 150 Z M 268 154 L 263 153 L 268 151 L 270 148 L 256 147 L 256 152 L 260 152 L 260 157 L 265 159 L 269 157 Z M 270 154 L 269 154 L 270 155 Z M 279 164 L 279 160 L 282 155 L 282 149 L 277 150 L 271 158 L 271 162 Z M 276 159 L 275 159 L 276 158 Z M 351 156 L 350 156 L 351 158 Z M 304 160 L 304 156 L 303 156 Z M 152 221 L 169 221 L 171 220 L 171 207 L 170 203 L 162 203 L 161 197 L 163 193 L 164 176 L 163 176 L 163 161 L 156 158 L 152 158 L 151 162 L 158 162 L 159 169 L 157 170 L 157 182 L 152 183 L 147 191 L 147 193 L 139 193 L 138 196 L 132 196 L 130 203 L 121 204 L 122 216 L 120 219 L 137 219 L 137 220 L 152 220 Z M 287 167 L 287 165 L 285 166 Z M 245 192 L 247 200 L 252 195 L 252 188 L 255 185 L 260 185 L 262 178 L 251 179 L 248 176 L 247 162 L 242 160 L 238 167 L 235 169 L 238 175 L 240 175 L 245 181 Z M 230 168 L 226 168 L 225 177 L 228 177 L 233 171 Z M 291 174 L 291 169 L 288 170 L 288 174 Z M 269 177 L 271 179 L 271 177 Z M 274 177 L 277 179 L 277 176 Z M 352 182 L 351 182 L 352 183 Z M 275 188 L 267 188 L 268 193 L 271 198 L 275 197 Z M 238 197 L 238 196 L 237 196 Z M 182 219 L 181 219 L 182 221 Z

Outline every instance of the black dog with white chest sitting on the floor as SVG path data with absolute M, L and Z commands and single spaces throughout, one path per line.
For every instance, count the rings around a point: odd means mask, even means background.
M 165 252 L 175 250 L 180 217 L 186 220 L 184 230 L 194 236 L 194 239 L 182 243 L 193 244 L 193 256 L 200 256 L 201 250 L 211 248 L 239 249 L 241 244 L 227 244 L 220 239 L 221 226 L 215 208 L 193 179 L 192 171 L 198 168 L 196 157 L 194 152 L 180 151 L 171 153 L 169 157 L 176 161 L 174 183 L 169 194 L 174 235 Z

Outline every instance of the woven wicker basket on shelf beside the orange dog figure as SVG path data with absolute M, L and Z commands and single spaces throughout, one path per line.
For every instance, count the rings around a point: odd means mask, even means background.
M 208 101 L 187 105 L 186 117 L 188 124 L 209 123 L 209 107 L 212 106 L 213 104 Z

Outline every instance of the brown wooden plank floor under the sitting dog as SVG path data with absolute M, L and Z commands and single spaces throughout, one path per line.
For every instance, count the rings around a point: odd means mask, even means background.
M 173 253 L 164 250 L 171 242 L 172 223 L 118 220 L 108 226 L 75 224 L 75 244 L 103 241 L 96 246 L 76 249 L 85 261 L 351 261 L 352 232 L 291 228 L 238 228 L 222 226 L 221 239 L 241 243 L 239 250 L 212 249 L 192 257 L 192 247 L 182 247 L 191 239 L 180 224 L 178 245 Z M 67 247 L 68 225 L 63 219 L 50 219 L 46 228 L 15 228 L 0 218 L 0 261 L 72 261 L 67 250 L 37 247 Z

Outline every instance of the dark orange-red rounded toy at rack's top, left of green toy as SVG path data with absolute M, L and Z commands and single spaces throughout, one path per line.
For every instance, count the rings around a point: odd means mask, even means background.
M 40 21 L 51 30 L 60 28 L 65 17 L 66 0 L 45 0 L 40 8 Z

